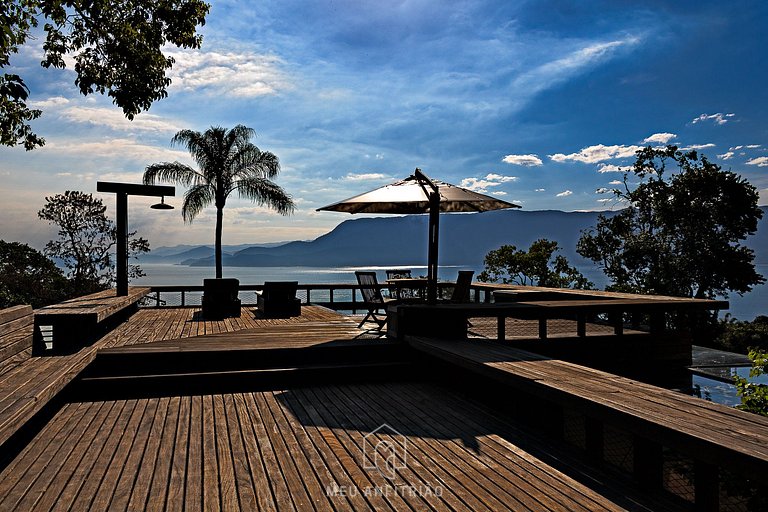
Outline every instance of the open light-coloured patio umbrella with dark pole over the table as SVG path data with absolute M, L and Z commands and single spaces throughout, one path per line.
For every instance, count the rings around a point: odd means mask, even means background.
M 432 180 L 416 169 L 404 180 L 359 196 L 318 208 L 347 213 L 429 213 L 429 254 L 427 258 L 427 302 L 437 302 L 437 247 L 440 212 L 487 212 L 520 206 L 479 194 L 450 183 Z

